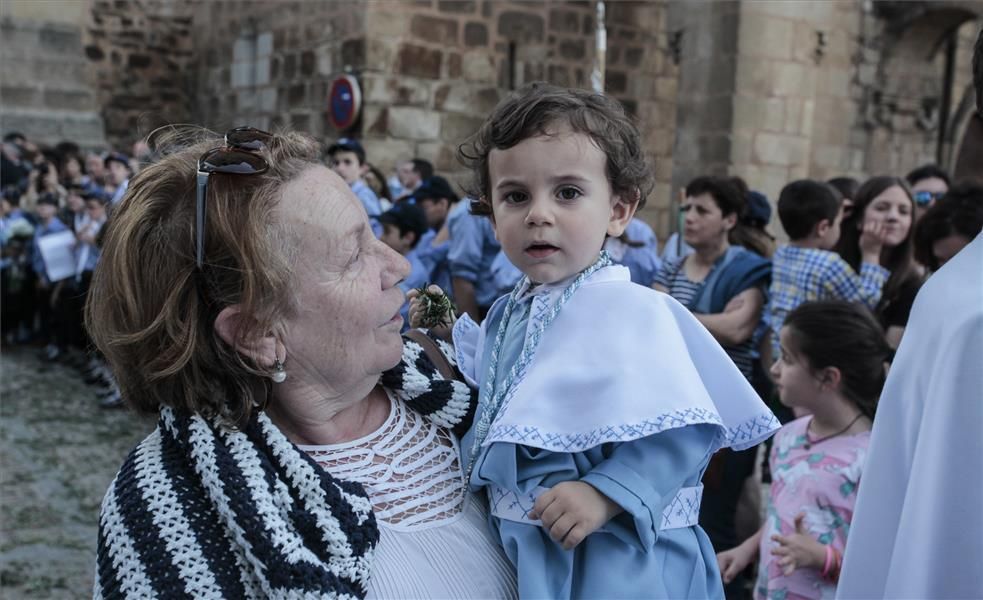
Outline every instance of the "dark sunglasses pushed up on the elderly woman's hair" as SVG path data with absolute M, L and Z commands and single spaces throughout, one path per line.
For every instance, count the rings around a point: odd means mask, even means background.
M 252 127 L 236 127 L 225 133 L 225 146 L 212 148 L 198 159 L 198 193 L 195 205 L 195 264 L 198 268 L 205 258 L 205 212 L 208 177 L 212 173 L 226 175 L 259 175 L 270 165 L 257 154 L 273 138 Z

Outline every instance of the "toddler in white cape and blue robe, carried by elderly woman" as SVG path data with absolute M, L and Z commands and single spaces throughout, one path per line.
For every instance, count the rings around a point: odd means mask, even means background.
M 601 251 L 651 188 L 638 130 L 609 98 L 531 84 L 461 154 L 472 210 L 523 273 L 453 329 L 480 390 L 462 464 L 520 597 L 722 596 L 700 478 L 778 423 L 688 310 Z

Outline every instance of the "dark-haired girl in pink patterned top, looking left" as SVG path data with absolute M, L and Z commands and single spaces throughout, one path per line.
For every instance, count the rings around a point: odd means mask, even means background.
M 724 582 L 760 557 L 756 598 L 833 597 L 889 353 L 857 304 L 809 302 L 785 319 L 772 375 L 782 404 L 811 414 L 775 435 L 765 524 L 717 555 Z

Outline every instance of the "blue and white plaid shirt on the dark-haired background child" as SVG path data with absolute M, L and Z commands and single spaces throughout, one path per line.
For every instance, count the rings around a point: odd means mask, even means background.
M 765 318 L 771 327 L 772 356 L 779 356 L 778 332 L 785 316 L 804 302 L 846 300 L 873 309 L 891 272 L 863 263 L 860 275 L 835 252 L 817 248 L 782 246 L 772 257 L 771 288 Z

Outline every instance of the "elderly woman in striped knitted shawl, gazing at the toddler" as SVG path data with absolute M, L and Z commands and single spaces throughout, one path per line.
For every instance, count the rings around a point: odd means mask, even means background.
M 103 501 L 96 596 L 515 596 L 447 427 L 466 398 L 380 384 L 420 375 L 407 262 L 309 138 L 184 146 L 134 177 L 87 307 L 159 414 Z

